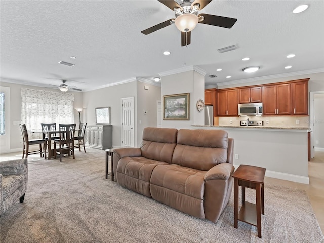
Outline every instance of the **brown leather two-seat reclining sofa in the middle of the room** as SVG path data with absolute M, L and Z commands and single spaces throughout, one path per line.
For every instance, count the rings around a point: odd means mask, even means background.
M 233 139 L 223 130 L 145 128 L 140 148 L 114 150 L 117 182 L 217 222 L 231 195 Z

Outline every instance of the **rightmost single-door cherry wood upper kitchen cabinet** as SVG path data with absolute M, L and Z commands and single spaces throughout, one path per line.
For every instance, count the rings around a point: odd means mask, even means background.
M 292 113 L 294 115 L 308 115 L 308 80 L 291 84 L 292 88 Z

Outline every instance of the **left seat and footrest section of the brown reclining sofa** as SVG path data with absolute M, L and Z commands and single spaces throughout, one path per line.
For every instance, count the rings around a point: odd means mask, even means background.
M 117 181 L 123 187 L 151 197 L 149 182 L 157 165 L 169 164 L 144 157 L 121 158 L 117 165 Z

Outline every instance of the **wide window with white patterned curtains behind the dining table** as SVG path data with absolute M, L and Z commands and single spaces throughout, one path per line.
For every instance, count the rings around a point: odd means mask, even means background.
M 72 93 L 22 88 L 21 124 L 28 130 L 41 130 L 41 123 L 74 123 L 73 101 Z M 35 135 L 30 134 L 30 138 Z

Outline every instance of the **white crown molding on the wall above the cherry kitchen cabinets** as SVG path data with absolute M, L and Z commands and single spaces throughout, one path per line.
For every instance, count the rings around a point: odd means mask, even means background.
M 281 73 L 281 74 L 275 74 L 275 75 L 269 75 L 269 76 L 263 76 L 263 77 L 253 77 L 253 78 L 247 78 L 247 79 L 233 80 L 230 82 L 220 82 L 220 83 L 216 83 L 216 85 L 217 85 L 217 87 L 221 87 L 221 86 L 228 86 L 228 85 L 243 84 L 243 83 L 248 83 L 248 82 L 258 82 L 258 81 L 267 80 L 267 79 L 284 78 L 284 77 L 291 77 L 291 76 L 298 76 L 298 75 L 307 75 L 307 74 L 320 73 L 320 72 L 324 72 L 324 68 L 317 68 L 317 69 L 311 69 L 311 70 L 305 70 L 305 71 L 299 71 L 299 72 Z

